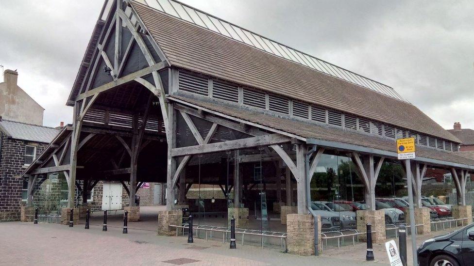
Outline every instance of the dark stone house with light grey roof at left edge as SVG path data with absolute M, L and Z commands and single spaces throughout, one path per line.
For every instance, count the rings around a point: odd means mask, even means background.
M 21 173 L 33 163 L 59 130 L 0 119 L 0 221 L 20 219 L 28 182 Z

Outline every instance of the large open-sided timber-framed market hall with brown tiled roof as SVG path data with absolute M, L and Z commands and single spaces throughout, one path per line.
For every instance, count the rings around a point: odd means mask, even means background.
M 318 173 L 338 167 L 330 177 L 341 176 L 341 162 L 350 162 L 351 186 L 339 184 L 336 194 L 352 190 L 352 201 L 365 201 L 361 225 L 376 225 L 375 241 L 385 239 L 375 192 L 388 164 L 412 173 L 420 210 L 426 169 L 452 172 L 456 213 L 471 212 L 465 186 L 474 161 L 454 155 L 460 141 L 393 88 L 174 0 L 105 1 L 67 105 L 73 125 L 24 177 L 64 172 L 68 208 L 79 208 L 76 180 L 82 191 L 119 181 L 129 220 L 139 219 L 141 182 L 167 183 L 161 235 L 174 234 L 169 225 L 181 224 L 187 206 L 199 224 L 227 227 L 234 216 L 239 228 L 286 231 L 288 251 L 308 255 L 311 204 L 335 194 L 320 189 Z M 397 161 L 403 137 L 417 143 L 409 164 Z

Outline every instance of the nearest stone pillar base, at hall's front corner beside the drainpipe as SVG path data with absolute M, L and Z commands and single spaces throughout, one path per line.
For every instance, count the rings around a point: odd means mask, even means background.
M 311 256 L 314 254 L 314 217 L 311 214 L 287 215 L 288 253 Z M 321 250 L 321 218 L 318 216 L 318 246 Z

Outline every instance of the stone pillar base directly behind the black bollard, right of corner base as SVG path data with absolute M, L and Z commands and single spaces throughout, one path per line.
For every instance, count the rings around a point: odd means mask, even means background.
M 371 223 L 372 231 L 372 242 L 373 243 L 384 243 L 385 242 L 385 211 L 357 211 L 357 230 L 359 232 L 367 232 L 367 223 Z M 366 235 L 359 235 L 359 239 L 366 241 Z

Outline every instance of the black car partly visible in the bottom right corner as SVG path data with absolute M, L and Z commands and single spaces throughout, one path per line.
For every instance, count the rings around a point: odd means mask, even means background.
M 420 266 L 474 265 L 474 224 L 424 241 L 418 262 Z

